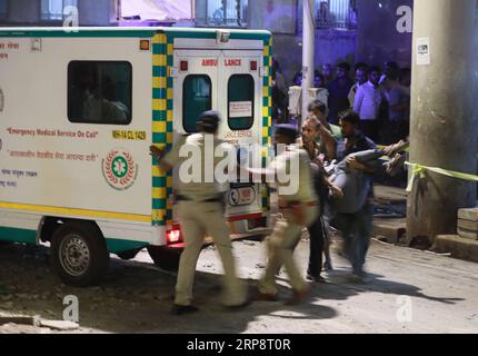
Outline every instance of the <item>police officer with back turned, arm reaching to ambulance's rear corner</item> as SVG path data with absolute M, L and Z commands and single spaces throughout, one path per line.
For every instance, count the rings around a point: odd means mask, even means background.
M 248 304 L 246 285 L 236 276 L 230 229 L 225 221 L 223 197 L 213 176 L 219 158 L 205 157 L 206 155 L 213 156 L 218 146 L 221 146 L 220 148 L 225 151 L 230 150 L 231 146 L 217 138 L 220 122 L 220 117 L 217 112 L 206 111 L 199 119 L 200 132 L 187 137 L 185 145 L 189 147 L 188 151 L 201 154 L 200 160 L 195 160 L 193 164 L 201 165 L 200 171 L 202 174 L 199 180 L 187 182 L 185 182 L 185 177 L 179 177 L 176 191 L 177 215 L 186 245 L 179 263 L 176 298 L 172 308 L 172 313 L 178 315 L 198 310 L 197 307 L 191 305 L 192 285 L 205 236 L 212 237 L 222 260 L 225 270 L 222 304 L 231 308 L 242 307 Z M 180 165 L 185 162 L 186 158 L 180 157 L 179 150 L 181 147 L 179 146 L 176 145 L 166 155 L 157 147 L 150 147 L 151 155 L 159 159 L 162 170 L 167 171 L 173 167 L 179 167 L 180 169 Z M 181 172 L 179 176 L 181 176 Z

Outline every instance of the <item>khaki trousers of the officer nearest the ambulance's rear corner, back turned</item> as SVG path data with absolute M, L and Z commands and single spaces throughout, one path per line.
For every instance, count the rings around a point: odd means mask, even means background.
M 236 306 L 246 301 L 246 285 L 236 276 L 230 229 L 225 221 L 220 202 L 180 201 L 178 217 L 185 238 L 185 250 L 179 261 L 175 304 L 187 306 L 192 300 L 196 265 L 205 236 L 212 237 L 225 270 L 222 304 Z

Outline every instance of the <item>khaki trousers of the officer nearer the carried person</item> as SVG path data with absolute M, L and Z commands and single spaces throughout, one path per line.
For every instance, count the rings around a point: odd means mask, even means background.
M 282 212 L 282 218 L 276 222 L 272 234 L 267 240 L 269 253 L 266 273 L 259 281 L 259 291 L 277 294 L 276 275 L 282 265 L 289 277 L 290 286 L 298 291 L 305 290 L 307 284 L 293 259 L 293 250 L 300 241 L 302 228 L 310 227 L 319 215 L 318 207 L 303 205 L 303 221 L 299 222 L 289 210 Z

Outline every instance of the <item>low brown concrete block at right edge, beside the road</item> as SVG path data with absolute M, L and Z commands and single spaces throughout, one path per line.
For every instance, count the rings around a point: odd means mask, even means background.
M 457 235 L 437 236 L 432 250 L 438 254 L 451 254 L 454 258 L 478 263 L 478 241 Z

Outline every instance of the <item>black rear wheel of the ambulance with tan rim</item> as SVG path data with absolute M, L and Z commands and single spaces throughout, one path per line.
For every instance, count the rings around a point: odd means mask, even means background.
M 109 263 L 104 238 L 92 222 L 68 221 L 51 238 L 51 265 L 69 286 L 86 287 L 103 277 Z

